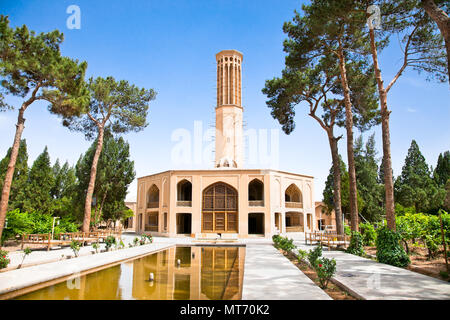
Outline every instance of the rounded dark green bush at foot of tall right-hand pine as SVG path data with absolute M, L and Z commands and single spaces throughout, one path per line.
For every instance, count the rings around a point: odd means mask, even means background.
M 411 261 L 399 243 L 400 235 L 383 226 L 377 230 L 377 260 L 396 267 L 407 267 Z

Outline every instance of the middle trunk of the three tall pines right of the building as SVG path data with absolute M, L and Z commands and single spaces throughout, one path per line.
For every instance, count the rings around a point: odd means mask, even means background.
M 345 127 L 347 131 L 347 158 L 348 158 L 348 174 L 350 186 L 350 220 L 352 231 L 358 231 L 358 198 L 356 188 L 356 171 L 355 171 L 355 157 L 353 152 L 353 112 L 352 102 L 350 100 L 350 89 L 347 81 L 347 70 L 345 68 L 345 57 L 342 46 L 339 45 L 339 70 L 341 74 L 341 84 L 344 90 L 344 104 L 345 104 Z

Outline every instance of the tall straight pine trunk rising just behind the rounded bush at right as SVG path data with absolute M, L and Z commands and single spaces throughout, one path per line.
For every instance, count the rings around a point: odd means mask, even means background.
M 384 166 L 384 190 L 386 196 L 386 221 L 389 229 L 396 229 L 395 226 L 395 206 L 394 206 L 394 179 L 392 177 L 391 160 L 391 135 L 389 131 L 390 111 L 387 107 L 387 92 L 381 78 L 381 70 L 378 65 L 378 53 L 375 45 L 375 32 L 370 29 L 370 46 L 372 51 L 373 65 L 375 68 L 375 78 L 378 86 L 378 93 L 381 107 L 381 131 L 383 137 L 383 166 Z

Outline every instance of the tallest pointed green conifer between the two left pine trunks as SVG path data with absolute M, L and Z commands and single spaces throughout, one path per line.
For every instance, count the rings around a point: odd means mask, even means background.
M 50 155 L 47 147 L 45 147 L 44 151 L 33 162 L 25 190 L 17 199 L 21 209 L 26 212 L 52 214 L 53 198 L 51 190 L 54 182 Z

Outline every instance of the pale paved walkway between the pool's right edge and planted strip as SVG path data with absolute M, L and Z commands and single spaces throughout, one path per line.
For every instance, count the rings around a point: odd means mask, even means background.
M 270 243 L 247 243 L 243 300 L 331 300 Z

